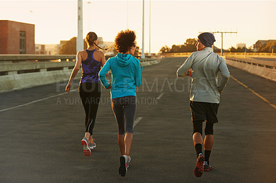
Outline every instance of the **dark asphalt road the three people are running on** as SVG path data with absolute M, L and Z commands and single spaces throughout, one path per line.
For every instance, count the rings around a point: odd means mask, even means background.
M 144 67 L 126 177 L 118 173 L 108 90 L 102 89 L 90 157 L 81 147 L 78 80 L 69 94 L 66 83 L 0 94 L 0 182 L 276 182 L 276 83 L 230 66 L 231 76 L 248 88 L 230 78 L 215 125 L 214 169 L 193 175 L 190 78 L 176 77 L 184 60 L 164 58 Z

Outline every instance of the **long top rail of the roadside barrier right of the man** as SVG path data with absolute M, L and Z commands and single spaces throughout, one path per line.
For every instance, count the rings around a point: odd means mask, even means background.
M 262 61 L 252 58 L 237 58 L 226 56 L 227 60 L 244 63 L 248 65 L 256 65 L 258 67 L 266 67 L 268 69 L 276 69 L 276 61 Z

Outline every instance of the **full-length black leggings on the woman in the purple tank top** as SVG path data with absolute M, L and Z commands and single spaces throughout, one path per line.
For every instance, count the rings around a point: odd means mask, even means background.
M 80 83 L 79 96 L 86 111 L 86 132 L 92 135 L 101 98 L 101 85 L 98 83 Z

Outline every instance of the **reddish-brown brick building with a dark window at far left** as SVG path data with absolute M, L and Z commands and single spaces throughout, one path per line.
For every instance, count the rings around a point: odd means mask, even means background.
M 0 20 L 0 54 L 34 53 L 34 24 Z

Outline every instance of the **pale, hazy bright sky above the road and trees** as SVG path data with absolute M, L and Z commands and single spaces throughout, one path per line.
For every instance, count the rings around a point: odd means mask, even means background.
M 83 1 L 83 37 L 89 31 L 114 41 L 117 32 L 137 32 L 141 48 L 143 1 Z M 151 4 L 151 8 L 150 8 Z M 151 10 L 151 11 L 150 11 Z M 181 45 L 199 32 L 233 31 L 224 36 L 224 48 L 257 40 L 276 39 L 276 1 L 145 1 L 145 52 Z M 151 12 L 151 16 L 149 16 Z M 35 24 L 35 43 L 57 44 L 77 36 L 77 0 L 2 1 L 0 19 Z M 221 34 L 215 34 L 221 47 Z

